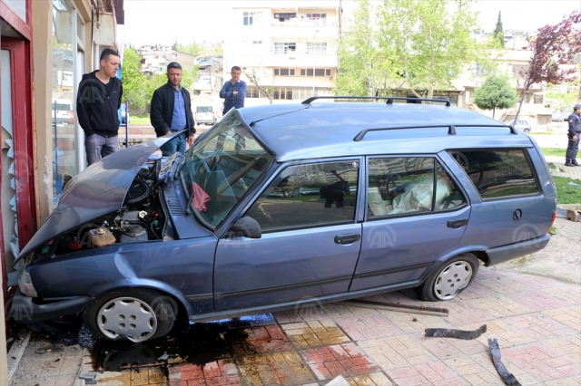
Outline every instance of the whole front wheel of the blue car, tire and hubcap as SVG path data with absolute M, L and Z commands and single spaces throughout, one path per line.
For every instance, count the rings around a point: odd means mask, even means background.
M 128 288 L 97 296 L 84 309 L 83 320 L 93 333 L 105 339 L 140 343 L 169 333 L 177 311 L 177 304 L 169 296 Z

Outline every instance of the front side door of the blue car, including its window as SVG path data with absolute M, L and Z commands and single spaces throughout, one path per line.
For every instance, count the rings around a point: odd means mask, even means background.
M 361 244 L 356 221 L 360 159 L 291 165 L 244 214 L 261 238 L 222 237 L 214 265 L 216 311 L 291 304 L 345 293 Z M 294 195 L 300 188 L 318 195 Z M 228 234 L 228 233 L 227 233 Z

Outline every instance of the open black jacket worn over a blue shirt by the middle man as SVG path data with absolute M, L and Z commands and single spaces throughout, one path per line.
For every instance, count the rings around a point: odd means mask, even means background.
M 165 83 L 153 92 L 152 105 L 150 108 L 150 121 L 158 137 L 162 137 L 172 127 L 173 102 L 175 89 L 170 82 Z M 192 114 L 192 100 L 190 92 L 182 87 L 182 96 L 185 104 L 186 137 L 190 137 L 196 132 Z

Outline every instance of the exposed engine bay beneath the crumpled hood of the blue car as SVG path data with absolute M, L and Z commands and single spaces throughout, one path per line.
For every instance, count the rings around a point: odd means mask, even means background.
M 133 179 L 119 210 L 74 227 L 45 243 L 36 258 L 61 256 L 79 250 L 117 243 L 160 240 L 165 236 L 167 214 L 159 188 L 160 160 L 148 161 Z

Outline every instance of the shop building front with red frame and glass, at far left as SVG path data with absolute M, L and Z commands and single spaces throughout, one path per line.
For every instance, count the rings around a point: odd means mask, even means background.
M 64 175 L 86 165 L 76 92 L 83 74 L 98 68 L 104 47 L 123 48 L 117 35 L 123 16 L 123 0 L 0 0 L 3 306 L 16 285 L 15 255 L 52 212 Z M 2 376 L 4 365 L 0 356 Z

